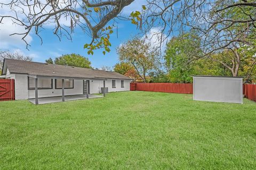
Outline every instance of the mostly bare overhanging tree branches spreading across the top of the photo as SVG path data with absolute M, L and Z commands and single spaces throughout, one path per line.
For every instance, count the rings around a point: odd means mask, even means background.
M 195 29 L 202 38 L 201 46 L 206 56 L 234 42 L 249 45 L 249 35 L 256 29 L 256 2 L 253 0 L 147 0 L 141 10 L 131 11 L 130 15 L 123 14 L 123 8 L 133 2 L 12 0 L 0 3 L 10 7 L 13 12 L 12 15 L 0 16 L 0 23 L 9 18 L 14 24 L 24 27 L 25 32 L 13 32 L 12 35 L 23 35 L 27 47 L 26 37 L 30 32 L 34 31 L 43 40 L 41 31 L 45 25 L 54 25 L 53 33 L 60 39 L 62 35 L 71 39 L 71 33 L 79 27 L 91 37 L 91 43 L 84 45 L 88 54 L 93 54 L 93 50 L 99 48 L 103 48 L 103 54 L 109 52 L 109 38 L 114 28 L 117 29 L 118 19 L 130 20 L 145 38 L 151 28 L 158 28 L 154 36 L 161 42 L 159 47 L 175 32 Z M 63 24 L 63 19 L 70 21 L 70 24 Z M 230 32 L 230 28 L 237 31 Z M 230 34 L 233 38 L 227 37 Z

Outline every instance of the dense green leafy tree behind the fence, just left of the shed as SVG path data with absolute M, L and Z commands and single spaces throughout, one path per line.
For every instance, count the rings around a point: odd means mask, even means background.
M 169 43 L 164 56 L 165 66 L 169 73 L 171 82 L 191 82 L 189 76 L 195 74 L 195 57 L 201 53 L 200 39 L 194 32 L 173 37 Z

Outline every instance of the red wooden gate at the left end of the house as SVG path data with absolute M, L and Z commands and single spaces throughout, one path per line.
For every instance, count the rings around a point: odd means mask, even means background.
M 14 79 L 0 79 L 0 101 L 15 100 Z

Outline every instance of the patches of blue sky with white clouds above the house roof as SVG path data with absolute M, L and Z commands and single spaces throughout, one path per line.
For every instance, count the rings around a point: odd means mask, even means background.
M 142 4 L 143 1 L 135 1 L 130 6 L 124 8 L 123 13 L 129 14 L 132 11 L 139 10 Z M 8 10 L 7 8 L 2 8 L 2 13 L 9 13 Z M 22 29 L 7 20 L 4 24 L 0 25 L 0 49 L 7 49 L 11 52 L 19 52 L 23 55 L 31 56 L 37 62 L 45 62 L 49 57 L 54 58 L 62 54 L 77 53 L 88 57 L 95 68 L 100 68 L 101 66 L 112 67 L 118 62 L 116 48 L 139 32 L 136 25 L 131 24 L 131 21 L 119 20 L 118 22 L 118 38 L 116 29 L 114 29 L 114 33 L 110 37 L 110 43 L 112 44 L 111 52 L 106 53 L 106 55 L 103 55 L 101 50 L 96 50 L 94 55 L 87 55 L 87 50 L 83 48 L 83 45 L 90 43 L 91 38 L 79 28 L 75 29 L 72 34 L 73 41 L 68 40 L 66 37 L 62 37 L 61 41 L 59 41 L 58 37 L 53 35 L 51 28 L 46 27 L 41 32 L 41 37 L 43 38 L 42 45 L 40 39 L 33 33 L 30 33 L 28 39 L 31 46 L 27 50 L 26 44 L 21 40 L 20 36 L 9 36 L 10 33 L 19 32 Z

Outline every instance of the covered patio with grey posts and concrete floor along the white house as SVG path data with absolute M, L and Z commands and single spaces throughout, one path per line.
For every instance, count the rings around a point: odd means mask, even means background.
M 105 89 L 105 81 L 107 79 L 104 78 L 78 78 L 78 77 L 49 77 L 49 76 L 42 76 L 42 75 L 28 75 L 30 78 L 35 79 L 35 98 L 29 99 L 29 101 L 35 105 L 38 104 L 47 104 L 47 103 L 55 103 L 60 101 L 70 101 L 70 100 L 81 100 L 81 99 L 89 99 L 89 98 L 99 98 L 105 97 L 105 90 L 102 91 L 102 96 L 100 95 L 91 95 L 89 94 L 89 81 L 90 80 L 101 80 L 103 81 L 103 89 Z M 62 86 L 61 86 L 61 95 L 62 96 L 54 96 L 54 97 L 38 97 L 38 79 L 61 79 Z M 81 95 L 68 95 L 65 96 L 65 83 L 64 80 L 71 79 L 71 80 L 83 80 L 86 81 L 86 93 Z

